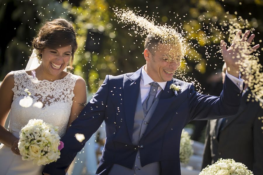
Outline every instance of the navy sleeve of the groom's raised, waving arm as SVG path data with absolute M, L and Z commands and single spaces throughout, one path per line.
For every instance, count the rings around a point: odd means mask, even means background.
M 188 90 L 189 120 L 212 120 L 234 115 L 238 112 L 242 91 L 240 87 L 225 77 L 220 97 L 203 95 L 190 85 Z

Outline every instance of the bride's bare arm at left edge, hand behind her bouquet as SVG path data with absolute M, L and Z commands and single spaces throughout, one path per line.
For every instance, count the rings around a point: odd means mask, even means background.
M 14 152 L 14 149 L 17 148 L 18 138 L 13 136 L 6 128 L 5 122 L 8 116 L 8 113 L 11 108 L 11 104 L 13 101 L 13 91 L 14 87 L 14 74 L 10 72 L 6 75 L 3 82 L 0 85 L 0 142 L 4 145 L 11 147 Z M 17 142 L 17 143 L 16 143 Z M 18 149 L 16 149 L 18 150 Z M 15 152 L 16 153 L 16 152 Z M 17 153 L 19 154 L 19 153 Z

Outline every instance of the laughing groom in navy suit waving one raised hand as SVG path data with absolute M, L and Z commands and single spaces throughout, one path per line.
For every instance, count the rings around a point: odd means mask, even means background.
M 240 35 L 241 31 L 236 37 Z M 248 35 L 249 31 L 242 39 Z M 251 35 L 248 42 L 253 38 Z M 195 92 L 192 84 L 172 78 L 178 62 L 168 62 L 165 53 L 169 48 L 149 34 L 143 53 L 146 65 L 134 73 L 105 77 L 61 139 L 64 148 L 60 159 L 46 165 L 43 172 L 65 174 L 104 120 L 106 141 L 96 174 L 180 175 L 180 137 L 185 125 L 191 120 L 223 118 L 238 111 L 243 80 L 239 79 L 237 58 L 232 57 L 239 51 L 226 50 L 223 41 L 221 48 L 229 67 L 224 89 L 220 97 L 207 96 Z M 171 84 L 181 89 L 174 92 Z M 84 134 L 85 140 L 77 141 L 76 133 Z

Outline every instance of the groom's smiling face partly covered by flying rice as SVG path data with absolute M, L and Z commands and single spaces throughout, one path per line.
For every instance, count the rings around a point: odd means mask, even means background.
M 174 72 L 179 66 L 179 61 L 172 56 L 171 47 L 165 44 L 158 44 L 151 52 L 144 50 L 144 58 L 146 59 L 146 73 L 155 82 L 171 81 Z

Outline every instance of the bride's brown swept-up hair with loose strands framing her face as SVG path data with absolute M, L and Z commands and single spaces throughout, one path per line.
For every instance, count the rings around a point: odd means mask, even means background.
M 74 53 L 77 50 L 76 33 L 72 24 L 63 18 L 47 21 L 39 30 L 37 36 L 32 41 L 36 49 L 38 60 L 41 61 L 41 50 L 44 48 L 60 48 L 65 46 L 72 47 L 70 69 L 73 69 Z

